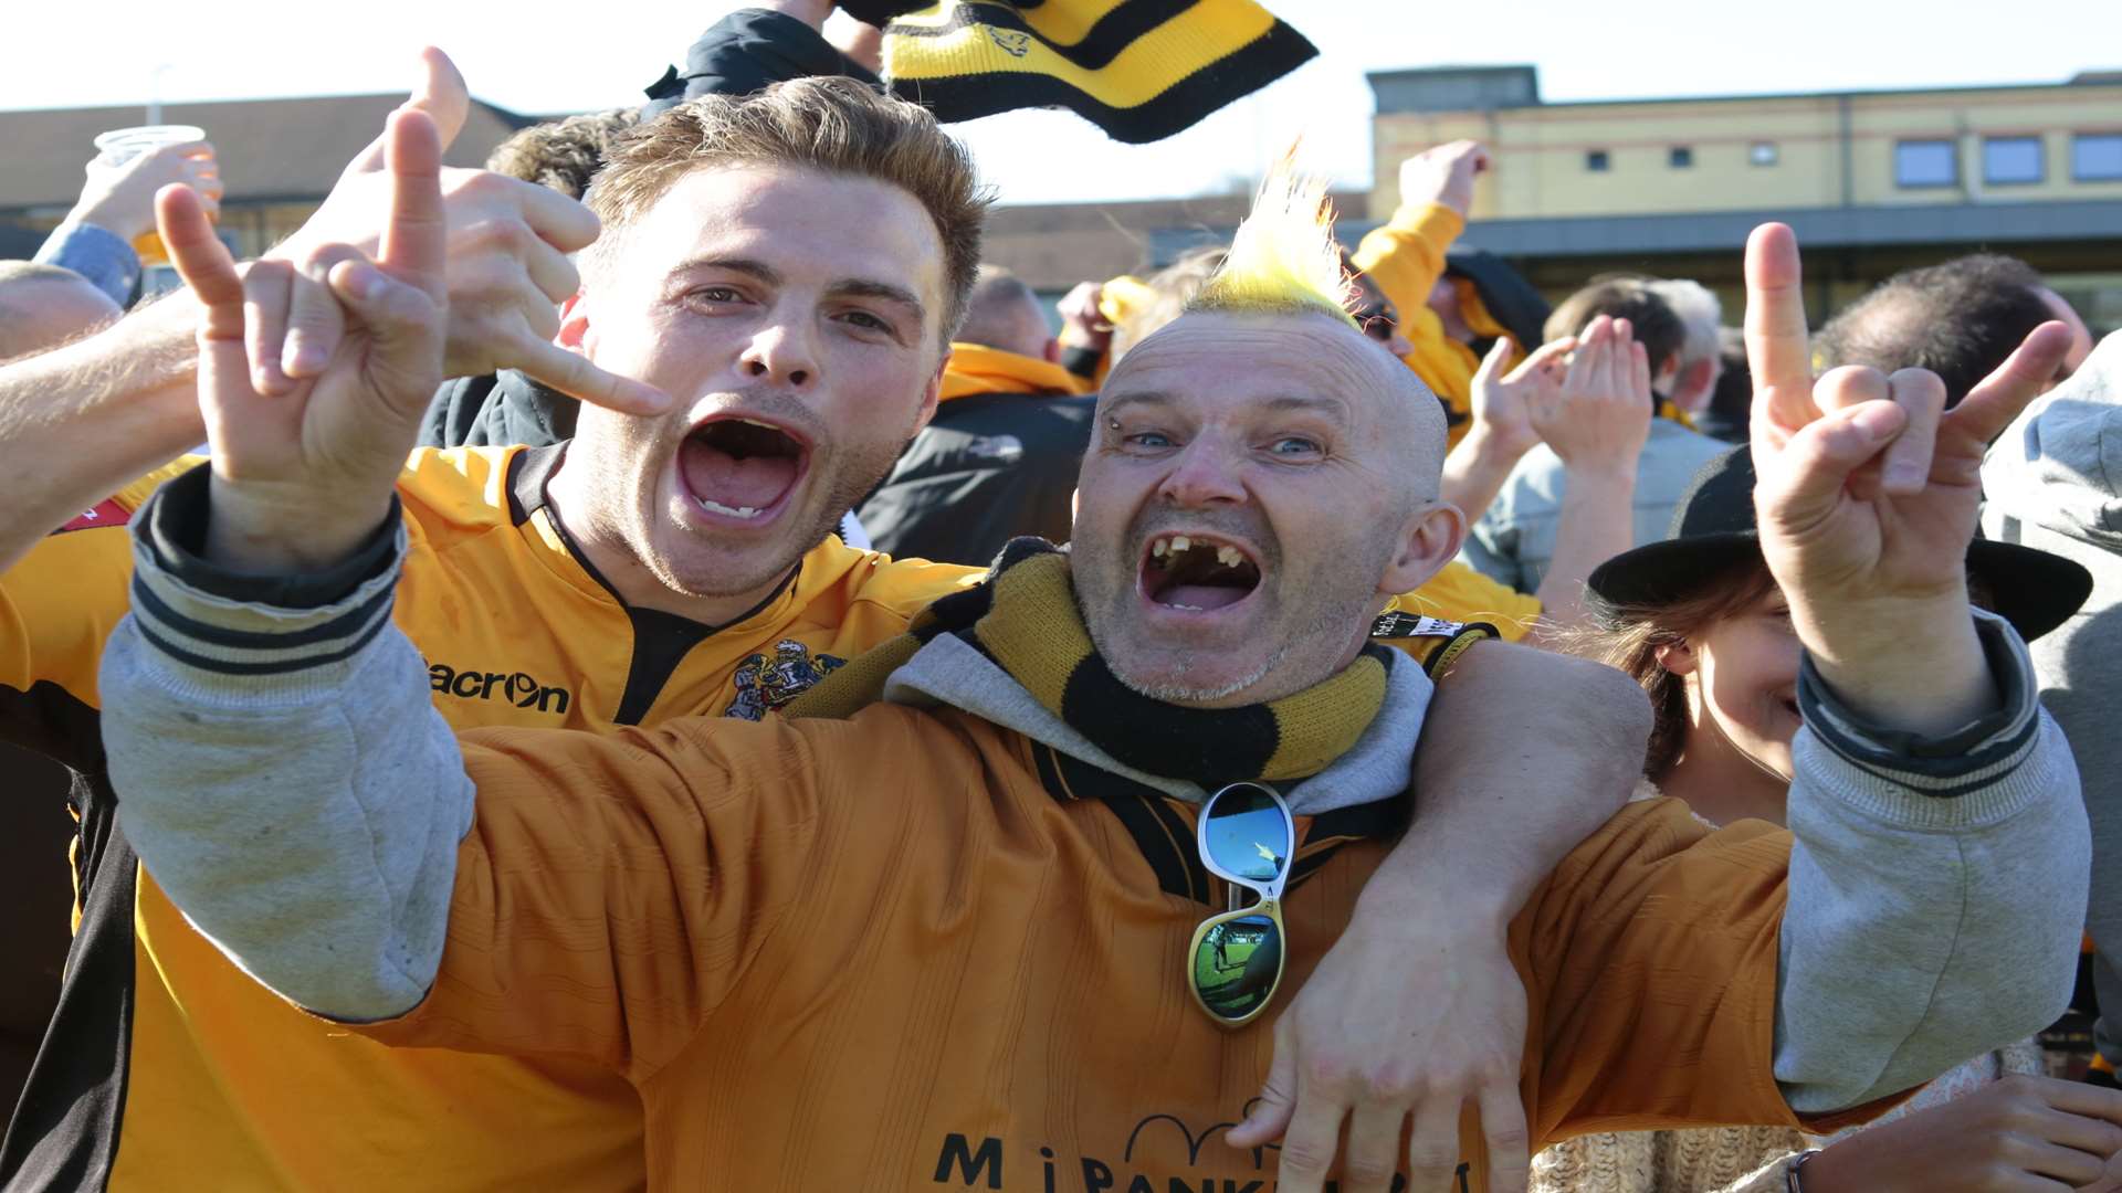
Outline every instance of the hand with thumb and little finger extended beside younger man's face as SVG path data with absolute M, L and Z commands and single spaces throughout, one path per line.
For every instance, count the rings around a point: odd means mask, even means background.
M 433 119 L 448 146 L 465 123 L 471 98 L 446 53 L 429 47 L 420 64 L 424 81 L 405 106 Z M 598 369 L 552 342 L 560 329 L 558 304 L 581 287 L 569 253 L 586 248 L 598 234 L 590 208 L 486 170 L 443 170 L 441 191 L 450 278 L 446 376 L 522 369 L 560 393 L 628 414 L 656 414 L 668 405 L 654 386 Z M 388 204 L 384 138 L 378 138 L 348 163 L 316 214 L 265 255 L 282 270 L 253 270 L 259 310 L 284 312 L 259 318 L 250 329 L 248 355 L 259 393 L 289 393 L 295 382 L 318 376 L 331 359 L 344 321 L 327 278 L 340 261 L 378 250 L 380 212 Z

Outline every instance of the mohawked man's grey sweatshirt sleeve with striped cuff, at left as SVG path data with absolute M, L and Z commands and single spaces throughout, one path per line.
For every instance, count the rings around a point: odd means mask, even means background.
M 178 480 L 134 520 L 134 611 L 102 660 L 119 826 L 250 976 L 333 1019 L 401 1015 L 441 966 L 473 798 L 427 664 L 390 622 L 405 531 L 393 514 L 378 567 L 310 605 L 316 577 L 189 556 L 172 488 L 204 499 Z

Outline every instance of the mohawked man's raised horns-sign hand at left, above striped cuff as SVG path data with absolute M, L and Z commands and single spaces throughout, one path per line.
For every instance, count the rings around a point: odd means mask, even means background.
M 206 558 L 244 571 L 329 567 L 382 522 L 420 416 L 441 384 L 446 234 L 435 121 L 384 129 L 390 217 L 373 261 L 344 248 L 325 276 L 344 335 L 314 378 L 261 393 L 246 325 L 269 318 L 185 187 L 157 195 L 170 259 L 204 308 L 199 410 L 212 444 Z M 259 272 L 253 267 L 253 276 Z M 269 291 L 267 291 L 269 293 Z M 286 289 L 278 291 L 286 304 Z

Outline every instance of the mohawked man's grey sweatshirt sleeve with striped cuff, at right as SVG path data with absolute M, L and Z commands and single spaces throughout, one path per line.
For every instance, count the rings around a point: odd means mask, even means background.
M 2024 643 L 1976 620 L 2003 709 L 1942 739 L 1865 726 L 1799 673 L 1776 998 L 1793 1110 L 1899 1093 L 2069 1002 L 2092 855 L 2077 766 Z

